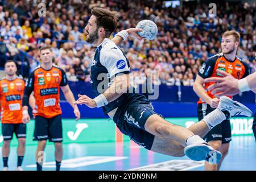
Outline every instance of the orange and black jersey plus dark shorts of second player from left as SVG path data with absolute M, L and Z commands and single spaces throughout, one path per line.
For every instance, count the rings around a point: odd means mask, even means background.
M 30 73 L 26 81 L 23 106 L 28 106 L 28 98 L 32 91 L 35 96 L 35 131 L 34 140 L 62 142 L 62 124 L 60 86 L 67 85 L 67 77 L 63 69 L 53 65 L 49 70 L 37 67 Z

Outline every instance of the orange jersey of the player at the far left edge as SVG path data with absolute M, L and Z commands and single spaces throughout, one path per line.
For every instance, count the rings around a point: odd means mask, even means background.
M 0 81 L 0 102 L 2 123 L 22 123 L 22 97 L 25 83 L 19 77 L 15 80 L 2 78 Z

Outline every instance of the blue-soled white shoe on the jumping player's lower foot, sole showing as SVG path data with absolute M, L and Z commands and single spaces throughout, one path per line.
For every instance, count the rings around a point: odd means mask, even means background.
M 184 148 L 184 154 L 191 160 L 206 160 L 210 164 L 218 164 L 222 156 L 221 152 L 214 150 L 208 143 L 189 145 Z

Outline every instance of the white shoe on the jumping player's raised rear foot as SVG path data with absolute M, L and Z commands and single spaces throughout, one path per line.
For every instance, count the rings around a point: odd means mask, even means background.
M 220 97 L 220 103 L 218 104 L 217 108 L 221 111 L 228 111 L 229 117 L 236 117 L 237 115 L 251 117 L 253 114 L 253 112 L 245 105 L 241 104 L 240 102 L 233 101 L 231 98 L 226 96 Z

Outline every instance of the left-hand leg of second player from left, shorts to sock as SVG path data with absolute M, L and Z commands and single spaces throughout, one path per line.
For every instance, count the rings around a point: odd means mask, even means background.
M 42 116 L 35 116 L 35 130 L 33 140 L 38 141 L 36 148 L 36 170 L 42 171 L 44 160 L 44 149 L 48 139 L 48 120 Z

